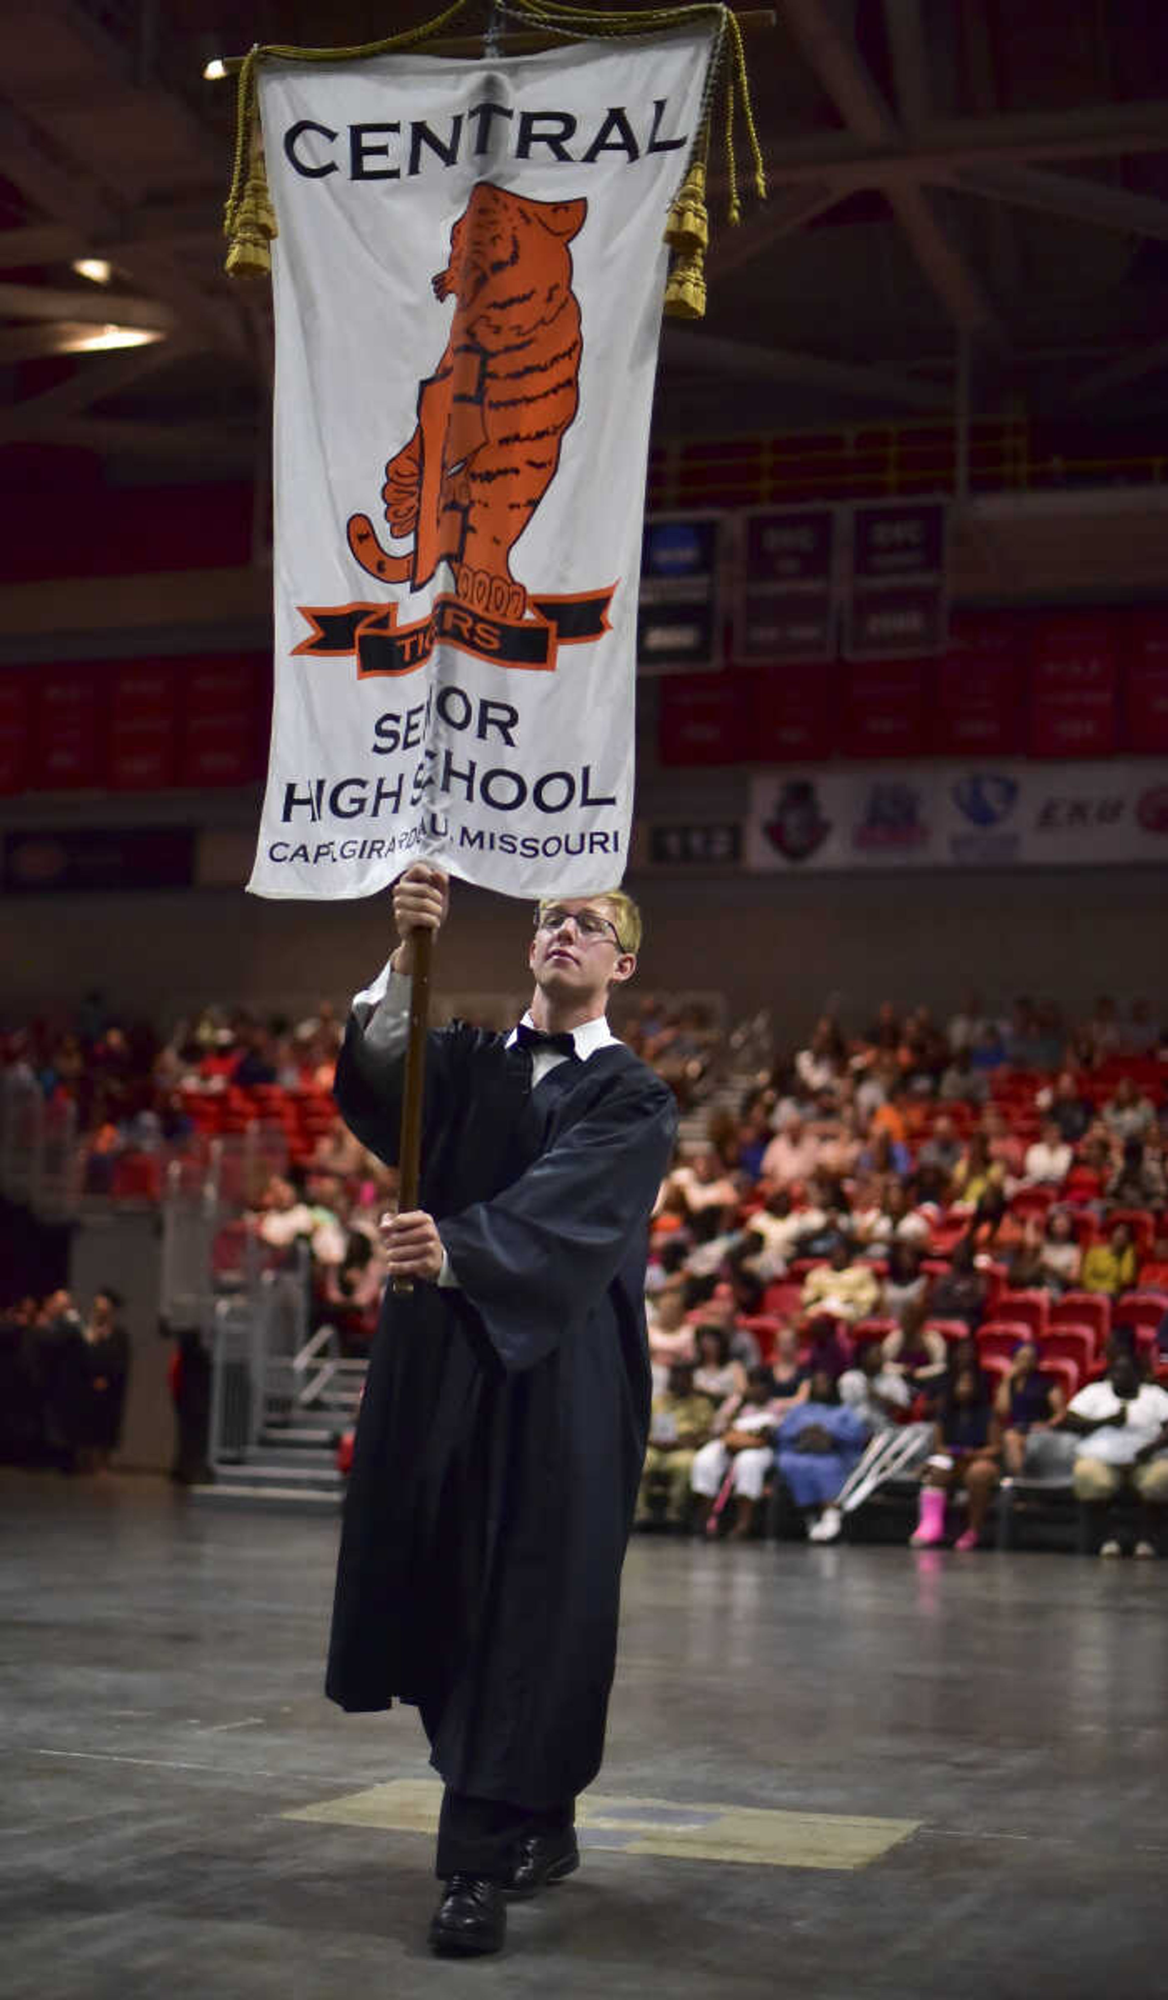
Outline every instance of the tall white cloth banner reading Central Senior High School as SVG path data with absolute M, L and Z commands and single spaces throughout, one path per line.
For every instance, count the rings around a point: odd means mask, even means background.
M 616 884 L 668 252 L 708 34 L 264 62 L 280 224 L 262 896 Z

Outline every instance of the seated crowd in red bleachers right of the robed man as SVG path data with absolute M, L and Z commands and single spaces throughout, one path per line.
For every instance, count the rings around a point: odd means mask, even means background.
M 922 1478 L 914 1540 L 942 1540 L 960 1500 L 972 1548 L 1054 1432 L 1094 1506 L 1092 1426 L 1114 1426 L 1110 1450 L 1130 1412 L 1084 1410 L 1124 1358 L 1140 1410 L 1162 1396 L 1168 1416 L 1166 1056 L 1148 1004 L 1110 998 L 1082 1026 L 1028 1000 L 996 1020 L 978 996 L 944 1030 L 926 1008 L 852 1036 L 820 1020 L 662 1188 L 642 1520 L 726 1510 L 754 1534 L 778 1474 L 832 1540 L 840 1492 L 884 1454 Z M 1150 1554 L 1168 1492 L 1134 1464 Z

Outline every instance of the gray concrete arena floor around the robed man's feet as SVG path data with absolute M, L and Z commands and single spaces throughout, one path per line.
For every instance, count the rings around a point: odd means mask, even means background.
M 496 1960 L 420 1834 L 282 1814 L 426 1776 L 320 1694 L 336 1522 L 0 1474 L 0 1994 L 1168 1990 L 1164 1564 L 634 1542 L 600 1790 L 920 1820 L 860 1872 L 590 1850 Z

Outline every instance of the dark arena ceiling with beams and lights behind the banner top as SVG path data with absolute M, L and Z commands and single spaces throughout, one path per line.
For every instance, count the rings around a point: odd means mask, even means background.
M 234 92 L 202 66 L 432 12 L 4 10 L 0 446 L 166 478 L 260 462 L 268 294 L 222 276 Z M 946 416 L 962 356 L 974 412 L 1168 434 L 1164 0 L 778 0 L 748 58 L 770 202 L 716 228 L 708 318 L 666 326 L 658 434 Z M 114 320 L 164 338 L 76 352 Z

